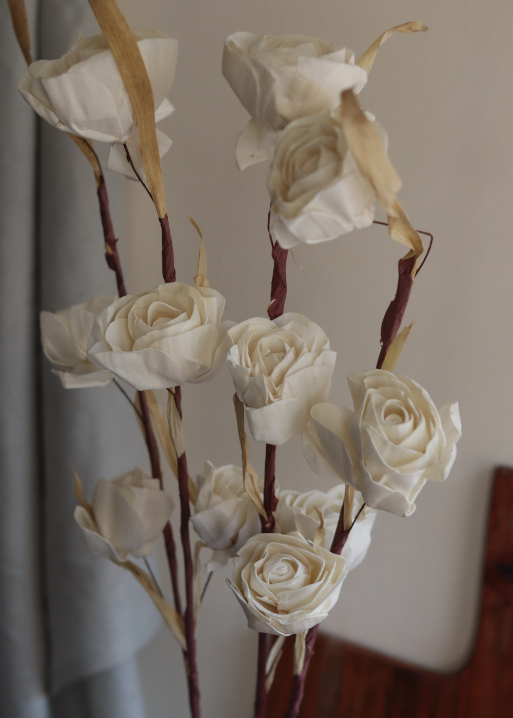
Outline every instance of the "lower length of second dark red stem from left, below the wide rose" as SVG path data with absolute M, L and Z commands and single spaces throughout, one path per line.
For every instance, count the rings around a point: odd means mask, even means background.
M 181 416 L 181 391 L 175 389 L 178 413 Z M 185 452 L 178 457 L 178 489 L 180 492 L 180 538 L 182 539 L 183 558 L 185 563 L 185 640 L 187 642 L 187 679 L 189 684 L 190 712 L 193 718 L 200 717 L 200 686 L 198 679 L 198 665 L 196 661 L 196 638 L 194 621 L 194 564 L 193 554 L 190 550 L 189 521 L 189 474 L 187 470 L 187 457 Z

